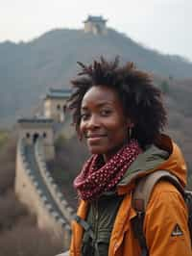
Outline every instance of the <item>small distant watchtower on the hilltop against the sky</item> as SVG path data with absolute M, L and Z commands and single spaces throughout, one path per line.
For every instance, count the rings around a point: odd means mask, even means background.
M 84 20 L 84 32 L 91 32 L 94 35 L 106 35 L 108 33 L 106 22 L 108 20 L 104 19 L 103 16 L 91 16 L 89 15 L 86 20 Z

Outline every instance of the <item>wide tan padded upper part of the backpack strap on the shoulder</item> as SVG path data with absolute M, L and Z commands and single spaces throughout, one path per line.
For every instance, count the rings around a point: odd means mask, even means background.
M 153 192 L 156 183 L 161 179 L 169 181 L 180 191 L 181 194 L 184 193 L 184 190 L 180 185 L 180 181 L 175 175 L 171 174 L 167 170 L 158 170 L 146 175 L 138 181 L 136 188 L 132 194 L 133 208 L 135 201 L 140 200 L 143 201 L 143 203 L 141 203 L 143 204 L 141 210 L 144 212 L 146 211 L 151 193 Z

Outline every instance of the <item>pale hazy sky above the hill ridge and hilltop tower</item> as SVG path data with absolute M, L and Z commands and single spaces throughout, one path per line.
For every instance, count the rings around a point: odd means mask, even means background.
M 192 0 L 0 0 L 0 41 L 83 28 L 87 14 L 103 15 L 108 27 L 192 61 Z

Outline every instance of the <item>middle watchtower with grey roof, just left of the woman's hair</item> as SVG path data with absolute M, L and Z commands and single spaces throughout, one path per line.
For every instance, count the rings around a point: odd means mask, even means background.
M 44 115 L 57 122 L 63 122 L 66 111 L 66 100 L 71 90 L 49 89 L 44 98 Z

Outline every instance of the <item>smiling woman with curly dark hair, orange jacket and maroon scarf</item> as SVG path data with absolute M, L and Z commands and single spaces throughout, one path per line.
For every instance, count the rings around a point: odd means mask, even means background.
M 132 229 L 136 181 L 166 169 L 184 187 L 186 166 L 177 145 L 161 135 L 166 112 L 147 73 L 103 58 L 79 64 L 83 70 L 72 81 L 69 107 L 91 157 L 74 181 L 80 206 L 72 223 L 70 255 L 139 256 Z M 174 233 L 176 227 L 180 232 Z M 156 184 L 143 231 L 150 256 L 192 255 L 187 209 L 171 183 Z

